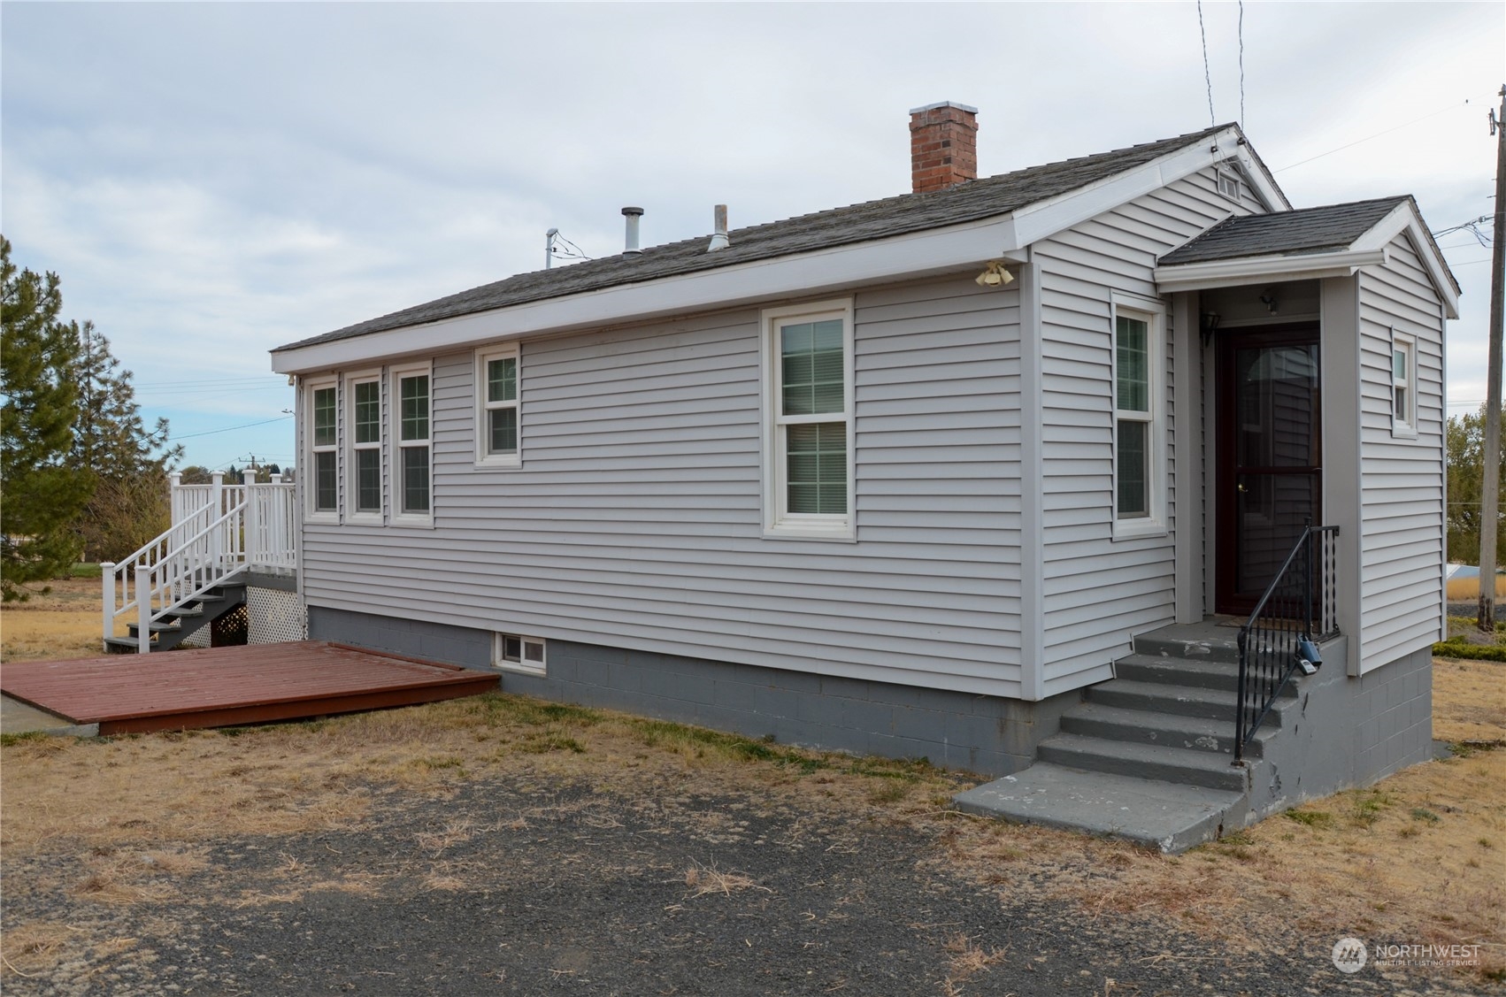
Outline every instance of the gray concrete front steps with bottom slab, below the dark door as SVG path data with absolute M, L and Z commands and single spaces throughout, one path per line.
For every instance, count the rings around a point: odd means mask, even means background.
M 1236 627 L 1206 620 L 1134 640 L 1114 678 L 1062 717 L 1035 765 L 956 797 L 962 810 L 1181 852 L 1247 822 L 1267 744 L 1297 703 L 1294 679 L 1233 765 Z

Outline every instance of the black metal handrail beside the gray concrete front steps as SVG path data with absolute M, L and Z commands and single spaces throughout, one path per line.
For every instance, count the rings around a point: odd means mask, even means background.
M 1316 643 L 1339 633 L 1337 553 L 1339 527 L 1309 524 L 1239 628 L 1236 765 L 1292 675 L 1322 664 Z

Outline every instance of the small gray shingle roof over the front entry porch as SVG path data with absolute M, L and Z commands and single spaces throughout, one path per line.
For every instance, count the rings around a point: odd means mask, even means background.
M 1348 248 L 1411 197 L 1376 197 L 1346 205 L 1303 208 L 1268 215 L 1226 218 L 1161 258 L 1163 267 L 1208 264 L 1245 256 L 1291 256 Z

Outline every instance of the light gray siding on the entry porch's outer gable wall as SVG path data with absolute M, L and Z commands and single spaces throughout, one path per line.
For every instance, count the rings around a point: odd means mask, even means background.
M 1443 319 L 1405 235 L 1360 271 L 1360 670 L 1441 640 Z M 1396 431 L 1395 343 L 1413 345 L 1413 434 Z

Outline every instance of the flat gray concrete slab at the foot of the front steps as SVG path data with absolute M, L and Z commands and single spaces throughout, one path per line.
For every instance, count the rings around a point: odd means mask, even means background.
M 1224 815 L 1244 804 L 1244 794 L 1036 762 L 953 801 L 967 813 L 1120 837 L 1176 854 L 1217 837 Z

